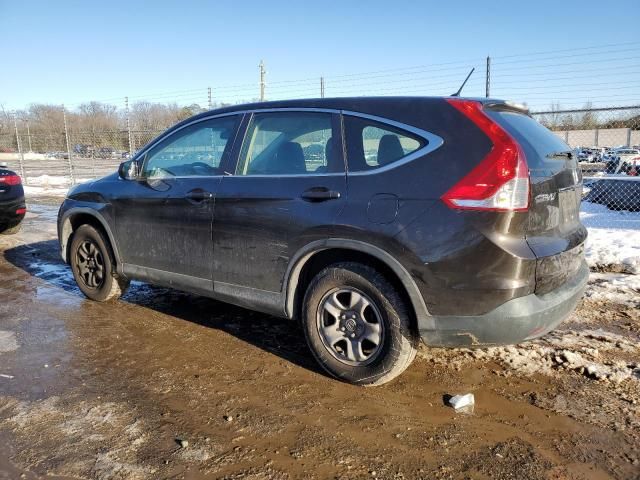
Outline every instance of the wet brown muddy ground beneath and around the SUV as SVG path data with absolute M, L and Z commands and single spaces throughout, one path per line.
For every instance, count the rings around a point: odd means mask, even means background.
M 85 300 L 57 201 L 0 237 L 0 479 L 640 478 L 640 293 L 594 274 L 527 345 L 422 349 L 357 388 L 296 324 L 142 283 Z M 446 395 L 473 392 L 472 414 Z M 181 446 L 182 444 L 182 446 Z

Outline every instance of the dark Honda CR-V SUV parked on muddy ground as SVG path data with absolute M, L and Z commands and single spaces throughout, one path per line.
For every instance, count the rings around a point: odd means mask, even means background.
M 332 375 L 381 384 L 427 345 L 517 343 L 588 277 L 581 174 L 526 110 L 383 97 L 185 120 L 72 188 L 62 256 L 104 301 L 130 280 L 300 319 Z

